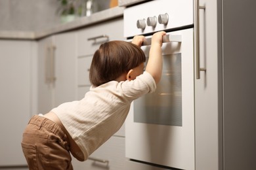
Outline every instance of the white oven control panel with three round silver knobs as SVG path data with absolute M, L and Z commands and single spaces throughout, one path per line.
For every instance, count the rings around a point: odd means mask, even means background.
M 191 25 L 193 1 L 149 1 L 125 9 L 123 19 L 125 37 Z

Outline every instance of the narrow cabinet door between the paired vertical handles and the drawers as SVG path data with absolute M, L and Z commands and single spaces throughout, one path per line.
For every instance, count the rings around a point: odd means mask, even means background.
M 76 99 L 76 38 L 75 33 L 63 33 L 54 36 L 55 76 L 54 105 Z

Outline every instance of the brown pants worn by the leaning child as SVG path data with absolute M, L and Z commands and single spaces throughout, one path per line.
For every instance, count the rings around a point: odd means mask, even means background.
M 21 144 L 30 169 L 73 169 L 68 137 L 47 118 L 33 116 Z

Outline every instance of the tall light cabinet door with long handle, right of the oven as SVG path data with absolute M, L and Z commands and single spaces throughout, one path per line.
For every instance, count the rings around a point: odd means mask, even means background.
M 200 6 L 205 6 L 205 10 L 200 9 L 200 67 L 205 67 L 206 72 L 200 71 L 200 79 L 195 76 L 196 170 L 216 170 L 221 159 L 217 1 L 200 0 Z

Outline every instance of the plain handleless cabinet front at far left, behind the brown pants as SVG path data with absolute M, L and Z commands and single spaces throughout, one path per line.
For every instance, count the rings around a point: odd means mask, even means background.
M 21 141 L 37 102 L 36 42 L 0 40 L 0 169 L 26 169 Z

